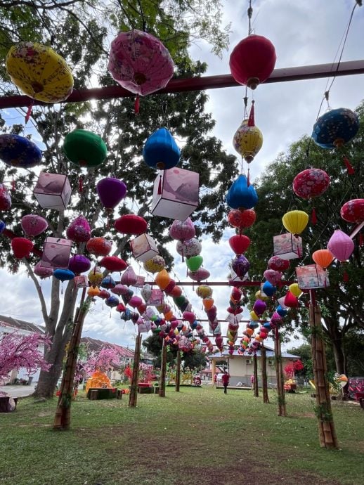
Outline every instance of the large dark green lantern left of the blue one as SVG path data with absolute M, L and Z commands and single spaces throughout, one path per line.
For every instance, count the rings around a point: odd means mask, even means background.
M 70 162 L 93 168 L 102 164 L 108 149 L 103 138 L 85 129 L 76 129 L 65 136 L 63 151 Z

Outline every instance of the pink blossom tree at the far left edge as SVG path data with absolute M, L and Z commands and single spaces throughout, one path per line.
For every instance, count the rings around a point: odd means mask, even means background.
M 39 349 L 41 344 L 49 346 L 51 339 L 39 333 L 20 335 L 16 331 L 0 335 L 0 379 L 20 368 L 27 369 L 28 375 L 35 374 L 39 368 L 47 371 L 50 365 Z

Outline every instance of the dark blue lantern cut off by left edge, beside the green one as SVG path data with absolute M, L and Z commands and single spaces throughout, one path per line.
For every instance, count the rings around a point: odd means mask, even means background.
M 41 163 L 41 150 L 25 136 L 0 135 L 0 160 L 11 167 L 30 169 Z

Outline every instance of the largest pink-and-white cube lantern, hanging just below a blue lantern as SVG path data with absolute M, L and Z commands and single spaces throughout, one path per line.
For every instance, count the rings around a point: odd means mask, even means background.
M 151 212 L 154 216 L 186 221 L 198 205 L 199 174 L 190 170 L 164 170 L 157 176 Z

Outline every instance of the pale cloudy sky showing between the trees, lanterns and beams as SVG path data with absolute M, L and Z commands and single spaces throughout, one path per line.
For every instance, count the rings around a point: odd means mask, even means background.
M 330 64 L 337 60 L 337 52 L 341 49 L 344 32 L 355 4 L 355 0 L 256 0 L 252 1 L 252 29 L 255 34 L 270 39 L 275 46 L 276 68 Z M 247 36 L 248 1 L 223 0 L 222 5 L 223 25 L 231 22 L 228 52 L 223 53 L 221 59 L 217 58 L 210 52 L 210 46 L 204 41 L 193 44 L 190 48 L 193 58 L 207 63 L 206 75 L 230 73 L 228 66 L 230 53 L 235 45 Z M 364 7 L 357 6 L 342 61 L 364 58 L 363 25 Z M 331 82 L 331 79 L 261 84 L 254 91 L 255 121 L 264 136 L 264 143 L 254 162 L 250 164 L 253 183 L 254 178 L 259 176 L 279 153 L 285 152 L 291 143 L 304 134 L 311 134 L 323 93 L 327 90 L 327 82 Z M 242 121 L 242 98 L 245 96 L 245 86 L 212 89 L 208 91 L 208 95 L 206 110 L 211 112 L 216 120 L 213 134 L 223 141 L 223 146 L 228 153 L 237 155 L 232 145 L 232 138 Z M 248 92 L 247 96 L 250 105 L 252 92 Z M 354 110 L 363 98 L 364 75 L 337 77 L 330 89 L 330 108 L 343 107 Z M 327 105 L 324 104 L 321 114 L 326 109 Z M 228 238 L 234 233 L 233 228 L 226 229 L 223 240 L 218 246 L 214 245 L 209 238 L 202 239 L 203 266 L 211 273 L 209 280 L 227 280 L 228 263 L 233 258 Z M 169 245 L 171 254 L 176 256 L 171 277 L 186 280 L 186 263 L 181 261 L 175 245 L 175 242 Z M 217 254 L 219 257 L 216 257 Z M 267 261 L 271 255 L 267 255 Z M 132 264 L 137 273 L 146 276 L 141 266 L 135 261 Z M 15 276 L 0 269 L 0 278 L 2 282 L 0 314 L 41 324 L 39 300 L 32 280 L 27 277 L 25 267 L 21 266 L 20 273 Z M 42 291 L 46 297 L 49 295 L 49 290 L 50 281 L 44 280 Z M 231 288 L 213 287 L 213 290 L 212 296 L 218 309 L 218 318 L 226 318 Z M 193 304 L 193 311 L 197 317 L 205 318 L 202 301 L 193 288 L 184 287 L 184 292 Z M 226 335 L 226 325 L 226 323 L 221 324 L 223 335 Z M 239 335 L 243 328 L 245 325 L 241 324 Z M 135 335 L 133 323 L 120 321 L 119 313 L 115 309 L 110 312 L 110 309 L 103 306 L 99 299 L 91 307 L 84 323 L 83 336 L 106 342 L 134 347 Z M 294 341 L 286 347 L 297 347 L 299 343 L 301 341 Z

